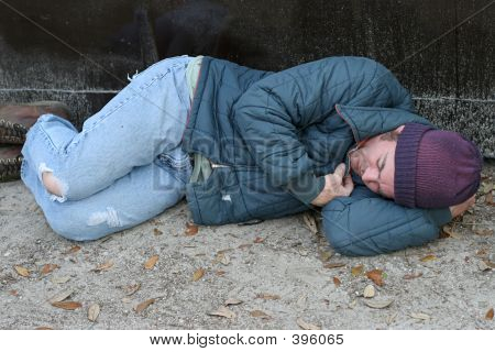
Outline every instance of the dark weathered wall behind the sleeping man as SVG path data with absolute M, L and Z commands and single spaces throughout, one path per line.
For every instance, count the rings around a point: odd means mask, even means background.
M 80 125 L 156 58 L 206 54 L 276 70 L 363 55 L 391 67 L 422 114 L 495 157 L 492 0 L 7 2 L 22 15 L 0 3 L 0 101 L 66 100 Z

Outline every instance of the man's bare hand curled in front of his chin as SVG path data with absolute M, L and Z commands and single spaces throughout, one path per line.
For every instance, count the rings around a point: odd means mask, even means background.
M 336 197 L 348 197 L 354 189 L 354 183 L 352 182 L 351 175 L 345 176 L 345 164 L 339 164 L 333 174 L 328 174 L 324 176 L 324 188 L 316 197 L 311 205 L 317 207 L 323 207 L 330 200 Z

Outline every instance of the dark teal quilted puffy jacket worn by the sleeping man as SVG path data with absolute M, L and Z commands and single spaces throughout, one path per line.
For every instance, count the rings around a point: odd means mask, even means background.
M 378 63 L 330 57 L 279 73 L 205 57 L 183 146 L 213 172 L 187 185 L 194 220 L 204 224 L 278 218 L 309 208 L 324 175 L 363 139 L 407 123 L 429 123 Z M 407 209 L 369 191 L 322 209 L 339 252 L 370 255 L 419 245 L 438 235 L 449 209 Z

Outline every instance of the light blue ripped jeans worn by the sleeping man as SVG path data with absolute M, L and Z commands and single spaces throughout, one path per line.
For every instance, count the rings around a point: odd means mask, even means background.
M 135 75 L 81 132 L 42 116 L 22 148 L 21 177 L 50 226 L 77 241 L 134 227 L 174 206 L 191 174 L 182 136 L 190 108 L 187 56 Z M 62 195 L 43 185 L 51 172 Z

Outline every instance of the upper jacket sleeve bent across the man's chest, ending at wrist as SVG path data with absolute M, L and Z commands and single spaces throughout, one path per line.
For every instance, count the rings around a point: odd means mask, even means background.
M 331 57 L 270 75 L 233 106 L 232 119 L 255 163 L 276 186 L 310 204 L 323 189 L 298 135 L 334 117 L 337 103 L 413 109 L 410 96 L 381 64 Z

